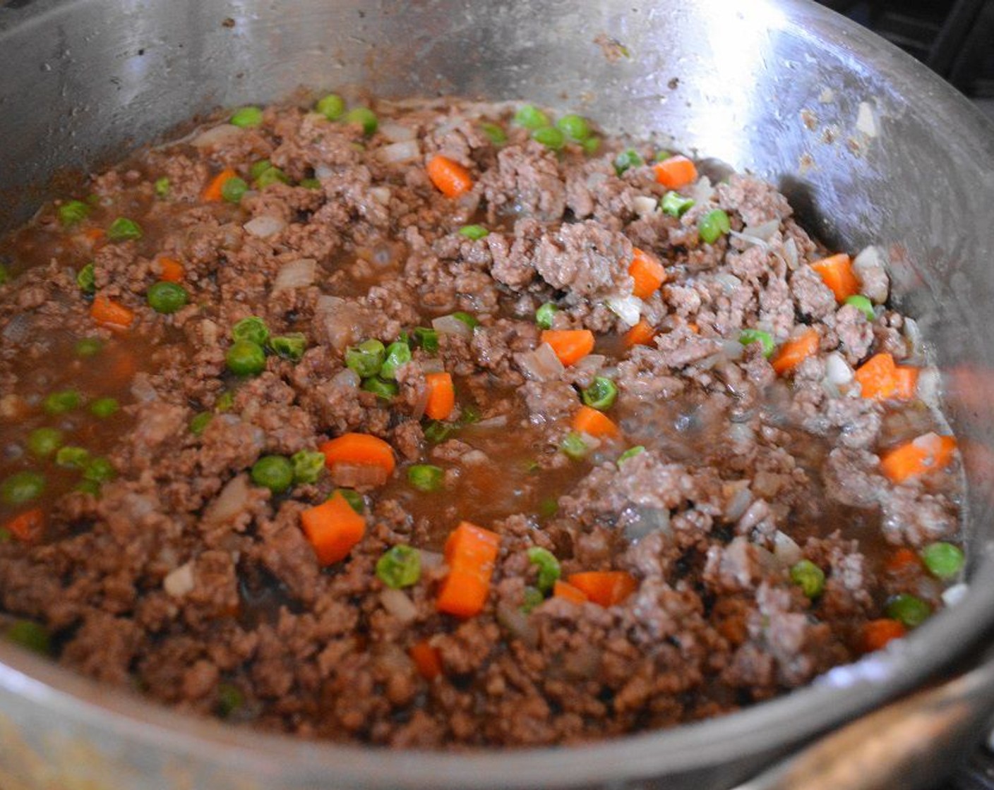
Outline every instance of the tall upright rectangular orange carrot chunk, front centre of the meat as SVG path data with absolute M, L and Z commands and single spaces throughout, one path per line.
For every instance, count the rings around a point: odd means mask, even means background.
M 472 617 L 483 609 L 499 546 L 499 535 L 475 524 L 462 522 L 455 528 L 445 542 L 448 574 L 435 599 L 438 611 Z

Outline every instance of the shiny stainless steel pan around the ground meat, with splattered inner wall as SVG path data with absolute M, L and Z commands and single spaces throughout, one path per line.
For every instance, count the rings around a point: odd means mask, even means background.
M 888 250 L 946 369 L 971 591 L 885 656 L 722 719 L 582 748 L 425 754 L 161 711 L 0 644 L 0 787 L 704 788 L 919 684 L 994 619 L 994 131 L 947 85 L 802 0 L 20 0 L 0 8 L 0 227 L 219 105 L 299 86 L 528 98 L 779 184 L 832 245 Z M 594 42 L 615 40 L 630 57 Z

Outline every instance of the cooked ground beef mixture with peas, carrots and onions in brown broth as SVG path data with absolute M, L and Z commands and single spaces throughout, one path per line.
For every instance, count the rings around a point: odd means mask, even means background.
M 711 175 L 331 95 L 45 206 L 0 242 L 0 632 L 427 748 L 671 726 L 900 638 L 962 573 L 935 372 L 874 248 Z

